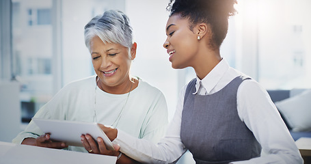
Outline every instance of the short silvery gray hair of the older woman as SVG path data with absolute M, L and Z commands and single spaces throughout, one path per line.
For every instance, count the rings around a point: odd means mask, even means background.
M 109 10 L 95 16 L 84 27 L 84 40 L 90 51 L 90 41 L 94 36 L 106 43 L 117 43 L 129 48 L 133 45 L 132 27 L 129 18 L 119 10 Z M 131 53 L 129 53 L 131 56 Z

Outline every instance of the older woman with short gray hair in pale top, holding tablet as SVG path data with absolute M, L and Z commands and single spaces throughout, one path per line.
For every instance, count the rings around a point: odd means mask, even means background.
M 137 44 L 133 42 L 129 18 L 110 10 L 92 18 L 84 33 L 96 75 L 66 85 L 34 117 L 98 122 L 122 129 L 133 137 L 157 142 L 168 122 L 167 105 L 160 90 L 130 75 Z M 83 135 L 83 139 L 89 137 Z M 43 134 L 33 122 L 13 142 L 67 147 L 51 141 L 49 134 Z M 68 146 L 68 150 L 97 151 L 90 146 Z

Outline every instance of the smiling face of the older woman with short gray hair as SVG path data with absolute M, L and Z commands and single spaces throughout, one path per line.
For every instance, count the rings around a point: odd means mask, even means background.
M 105 44 L 98 36 L 90 42 L 92 64 L 103 87 L 117 87 L 129 80 L 129 49 L 121 44 Z M 135 57 L 135 55 L 134 55 Z

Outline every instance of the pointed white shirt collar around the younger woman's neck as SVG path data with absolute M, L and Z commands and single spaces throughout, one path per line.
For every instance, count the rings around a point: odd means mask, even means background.
M 199 79 L 197 76 L 196 83 L 195 83 L 195 92 L 193 94 L 197 94 L 200 87 L 204 87 L 206 93 L 209 94 L 211 90 L 219 83 L 221 77 L 224 76 L 226 71 L 230 68 L 226 59 L 221 59 L 219 64 L 217 64 L 211 72 L 209 72 L 206 77 L 202 80 Z

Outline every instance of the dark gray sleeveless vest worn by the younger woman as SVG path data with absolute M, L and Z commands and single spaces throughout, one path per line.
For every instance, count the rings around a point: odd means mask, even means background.
M 188 84 L 180 138 L 195 163 L 229 163 L 260 156 L 260 144 L 236 109 L 236 93 L 243 80 L 236 77 L 210 95 L 193 95 L 196 79 Z

